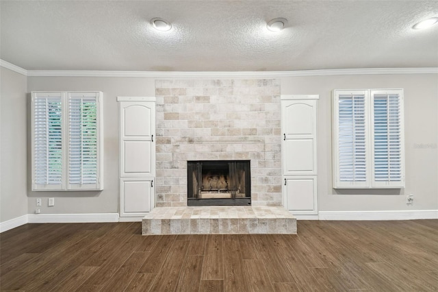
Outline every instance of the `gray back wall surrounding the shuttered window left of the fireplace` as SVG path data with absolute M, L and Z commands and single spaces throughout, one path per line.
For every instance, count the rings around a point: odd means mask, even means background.
M 154 82 L 155 80 L 143 77 L 29 77 L 27 93 L 44 90 L 102 91 L 105 139 L 103 191 L 31 192 L 29 190 L 29 213 L 35 211 L 37 197 L 42 198 L 42 208 L 40 208 L 42 214 L 118 212 L 118 104 L 116 99 L 118 96 L 153 97 L 155 96 Z M 47 206 L 49 197 L 55 197 L 55 206 Z

